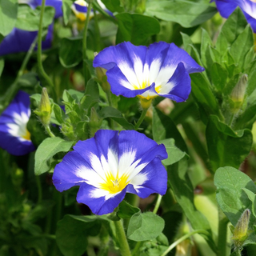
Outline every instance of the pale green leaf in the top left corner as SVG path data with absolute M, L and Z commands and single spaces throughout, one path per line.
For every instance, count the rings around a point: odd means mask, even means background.
M 0 0 L 0 34 L 10 34 L 18 14 L 17 0 Z

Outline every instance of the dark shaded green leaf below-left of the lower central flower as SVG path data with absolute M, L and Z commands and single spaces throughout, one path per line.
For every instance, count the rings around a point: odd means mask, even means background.
M 87 236 L 97 235 L 102 226 L 97 216 L 65 215 L 58 222 L 56 242 L 64 256 L 81 256 L 88 245 Z

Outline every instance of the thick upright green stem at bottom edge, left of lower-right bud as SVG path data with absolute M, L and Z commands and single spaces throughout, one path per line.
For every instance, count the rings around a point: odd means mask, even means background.
M 226 256 L 226 234 L 229 220 L 218 208 L 218 256 Z

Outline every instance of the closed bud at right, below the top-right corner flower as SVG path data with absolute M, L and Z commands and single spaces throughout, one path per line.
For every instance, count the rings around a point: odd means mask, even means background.
M 248 75 L 243 74 L 230 94 L 230 99 L 232 101 L 231 108 L 234 113 L 238 112 L 238 110 L 241 109 L 242 103 L 244 102 L 244 98 L 246 96 L 247 82 Z

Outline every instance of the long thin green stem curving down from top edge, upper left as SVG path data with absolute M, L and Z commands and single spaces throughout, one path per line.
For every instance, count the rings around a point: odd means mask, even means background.
M 51 89 L 54 93 L 54 98 L 56 98 L 54 84 L 53 84 L 53 82 L 51 82 L 49 76 L 46 74 L 46 71 L 44 70 L 44 68 L 42 66 L 42 19 L 43 19 L 43 14 L 45 11 L 45 5 L 46 5 L 46 0 L 42 0 L 41 14 L 40 14 L 40 20 L 39 20 L 39 29 L 38 29 L 38 71 L 40 74 L 42 74 L 42 77 L 46 79 L 46 82 L 51 87 Z

